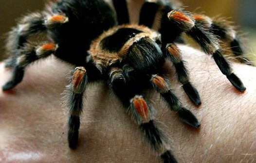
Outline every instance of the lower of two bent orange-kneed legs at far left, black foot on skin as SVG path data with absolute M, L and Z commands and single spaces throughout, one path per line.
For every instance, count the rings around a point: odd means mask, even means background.
M 54 43 L 46 43 L 43 45 L 25 44 L 25 46 L 20 49 L 20 55 L 14 65 L 12 79 L 3 85 L 2 90 L 5 91 L 15 87 L 20 81 L 22 81 L 24 68 L 27 65 L 53 54 L 57 47 L 58 46 Z

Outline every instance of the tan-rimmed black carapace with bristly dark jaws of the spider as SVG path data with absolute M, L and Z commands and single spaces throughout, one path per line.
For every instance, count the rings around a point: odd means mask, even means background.
M 164 62 L 163 53 L 156 43 L 160 39 L 159 33 L 143 26 L 117 26 L 94 40 L 89 54 L 100 71 L 128 63 L 136 71 L 148 72 Z

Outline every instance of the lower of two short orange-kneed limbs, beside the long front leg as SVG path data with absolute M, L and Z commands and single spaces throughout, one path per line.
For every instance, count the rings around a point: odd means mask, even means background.
M 200 127 L 200 122 L 198 121 L 196 116 L 192 114 L 189 110 L 184 108 L 180 100 L 172 93 L 170 85 L 166 79 L 159 75 L 152 75 L 151 82 L 154 88 L 165 99 L 169 108 L 177 112 L 183 122 L 194 128 Z

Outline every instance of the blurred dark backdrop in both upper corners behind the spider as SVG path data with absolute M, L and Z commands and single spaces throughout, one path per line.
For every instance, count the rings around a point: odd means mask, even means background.
M 0 0 L 0 60 L 4 54 L 4 34 L 16 25 L 17 18 L 28 11 L 38 11 L 49 0 Z M 245 33 L 249 54 L 256 54 L 256 0 L 180 0 L 188 11 L 208 16 L 225 16 Z

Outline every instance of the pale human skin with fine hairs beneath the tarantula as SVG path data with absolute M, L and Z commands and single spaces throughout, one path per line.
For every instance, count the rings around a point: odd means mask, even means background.
M 145 96 L 157 110 L 156 119 L 171 140 L 180 163 L 256 162 L 256 67 L 233 63 L 247 90 L 238 92 L 206 54 L 179 46 L 202 105 L 186 97 L 170 63 L 165 65 L 172 88 L 183 105 L 200 120 L 192 129 L 168 110 L 155 91 Z M 67 111 L 61 93 L 73 65 L 54 57 L 26 68 L 13 90 L 0 91 L 0 163 L 161 163 L 157 153 L 127 115 L 106 83 L 89 86 L 78 147 L 67 142 Z M 0 64 L 0 85 L 10 70 Z

